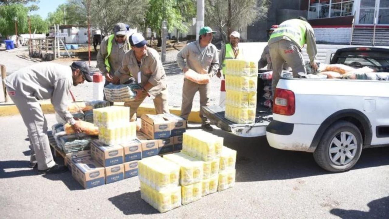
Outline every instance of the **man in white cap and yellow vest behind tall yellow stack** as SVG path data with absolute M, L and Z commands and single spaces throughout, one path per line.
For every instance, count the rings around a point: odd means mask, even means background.
M 221 63 L 221 65 L 219 66 L 219 69 L 217 69 L 216 74 L 218 78 L 221 78 L 222 73 L 220 72 L 220 70 L 222 70 L 224 78 L 227 59 L 242 59 L 243 53 L 238 47 L 239 40 L 240 34 L 237 31 L 234 31 L 230 34 L 230 43 L 227 43 L 226 46 L 223 46 L 221 48 L 219 53 L 219 63 Z

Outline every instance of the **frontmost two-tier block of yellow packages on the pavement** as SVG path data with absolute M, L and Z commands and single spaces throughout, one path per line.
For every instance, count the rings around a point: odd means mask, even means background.
M 180 167 L 162 157 L 138 161 L 140 197 L 159 212 L 181 206 Z

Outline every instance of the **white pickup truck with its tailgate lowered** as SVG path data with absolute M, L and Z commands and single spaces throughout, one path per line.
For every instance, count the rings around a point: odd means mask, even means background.
M 389 49 L 339 49 L 334 63 L 389 72 Z M 226 120 L 222 107 L 204 109 L 224 131 L 242 137 L 266 134 L 271 147 L 312 152 L 328 171 L 349 170 L 363 148 L 389 145 L 389 81 L 281 78 L 273 100 L 272 112 L 257 106 L 255 124 Z

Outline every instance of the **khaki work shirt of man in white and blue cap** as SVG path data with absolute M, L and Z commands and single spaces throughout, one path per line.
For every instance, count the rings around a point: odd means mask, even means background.
M 140 64 L 137 62 L 134 51 L 128 51 L 124 55 L 121 65 L 115 72 L 115 76 L 120 78 L 121 84 L 128 81 L 130 77 L 134 77 L 136 81 L 139 81 L 139 75 L 142 86 L 147 82 L 150 82 L 153 85 L 153 87 L 148 90 L 152 97 L 156 97 L 156 95 L 161 93 L 161 90 L 166 89 L 165 69 L 163 68 L 159 54 L 155 49 L 147 47 L 146 54 L 140 60 Z

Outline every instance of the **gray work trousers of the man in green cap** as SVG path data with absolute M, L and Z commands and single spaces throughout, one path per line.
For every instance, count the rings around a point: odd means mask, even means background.
M 211 95 L 211 83 L 200 85 L 188 79 L 184 79 L 184 86 L 182 87 L 182 104 L 181 104 L 181 118 L 188 119 L 193 105 L 193 97 L 196 92 L 200 94 L 200 118 L 201 124 L 209 124 L 209 119 L 203 113 L 203 106 L 209 106 L 209 98 Z

